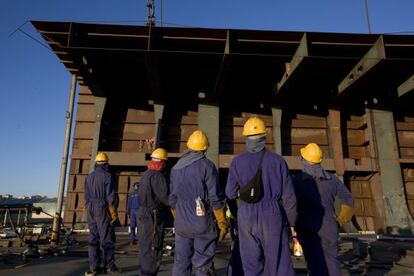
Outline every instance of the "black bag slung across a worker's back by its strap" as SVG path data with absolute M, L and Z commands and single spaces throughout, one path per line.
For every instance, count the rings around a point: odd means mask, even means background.
M 264 149 L 260 156 L 259 165 L 257 166 L 256 174 L 247 185 L 240 189 L 240 199 L 247 203 L 256 203 L 263 197 L 263 182 L 262 182 L 262 163 L 266 150 Z

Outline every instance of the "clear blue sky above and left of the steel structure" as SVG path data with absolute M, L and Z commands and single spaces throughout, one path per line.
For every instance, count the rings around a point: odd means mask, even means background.
M 163 2 L 164 22 L 185 26 L 368 32 L 364 0 Z M 21 32 L 9 35 L 27 20 L 142 25 L 145 3 L 0 0 L 0 194 L 56 195 L 70 85 L 70 74 L 50 51 Z M 372 32 L 414 34 L 413 11 L 413 0 L 369 0 Z M 41 39 L 30 24 L 22 29 Z

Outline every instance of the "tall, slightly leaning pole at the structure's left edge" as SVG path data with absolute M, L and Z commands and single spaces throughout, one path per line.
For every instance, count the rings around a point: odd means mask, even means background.
M 76 75 L 72 75 L 72 81 L 70 84 L 70 95 L 69 95 L 69 103 L 68 109 L 66 111 L 66 129 L 65 129 L 65 141 L 63 144 L 63 155 L 62 155 L 62 163 L 60 165 L 60 179 L 59 179 L 59 189 L 58 189 L 58 196 L 57 196 L 57 204 L 56 204 L 56 213 L 55 217 L 53 218 L 53 227 L 52 227 L 52 245 L 59 244 L 59 231 L 60 231 L 60 223 L 62 220 L 62 207 L 63 207 L 63 196 L 65 192 L 65 181 L 66 181 L 66 171 L 67 171 L 67 163 L 68 163 L 68 156 L 69 156 L 69 142 L 70 142 L 70 134 L 72 130 L 72 115 L 73 115 L 73 106 L 75 102 L 75 91 L 76 91 Z

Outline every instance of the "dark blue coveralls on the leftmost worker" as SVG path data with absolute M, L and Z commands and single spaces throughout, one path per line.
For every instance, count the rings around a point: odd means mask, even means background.
M 115 232 L 110 224 L 108 206 L 115 205 L 113 177 L 109 165 L 95 165 L 85 179 L 85 202 L 88 209 L 88 256 L 91 271 L 114 266 Z

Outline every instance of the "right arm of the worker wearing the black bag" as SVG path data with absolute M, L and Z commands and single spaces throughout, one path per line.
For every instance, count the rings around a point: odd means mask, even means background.
M 282 205 L 291 227 L 295 226 L 297 210 L 296 195 L 293 187 L 292 178 L 290 177 L 289 168 L 284 159 L 280 162 L 280 175 L 282 180 Z

